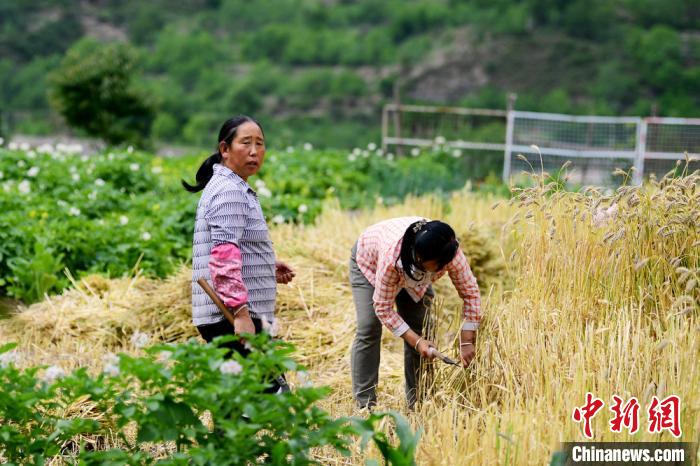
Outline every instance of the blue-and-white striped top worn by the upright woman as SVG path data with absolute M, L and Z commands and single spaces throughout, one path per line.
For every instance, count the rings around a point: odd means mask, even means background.
M 204 277 L 212 284 L 209 268 L 211 251 L 214 246 L 225 243 L 235 244 L 241 251 L 242 276 L 248 290 L 250 314 L 272 323 L 277 293 L 275 252 L 260 202 L 255 191 L 241 177 L 224 165 L 215 164 L 214 175 L 199 199 L 194 228 L 194 325 L 214 324 L 224 319 L 197 280 Z

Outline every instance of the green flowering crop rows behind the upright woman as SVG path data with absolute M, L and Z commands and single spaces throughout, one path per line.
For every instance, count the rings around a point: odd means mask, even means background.
M 68 286 L 66 269 L 164 277 L 188 260 L 199 196 L 180 180 L 192 182 L 206 154 L 12 149 L 0 148 L 0 296 L 40 300 Z M 331 199 L 345 209 L 392 204 L 460 189 L 469 172 L 469 158 L 440 147 L 405 157 L 374 144 L 349 153 L 290 147 L 270 151 L 249 181 L 270 223 L 309 223 Z

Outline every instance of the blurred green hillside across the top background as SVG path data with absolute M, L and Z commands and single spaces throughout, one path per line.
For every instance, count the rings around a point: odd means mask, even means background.
M 377 140 L 383 103 L 700 115 L 692 0 L 67 0 L 0 4 L 0 134 L 66 131 L 51 72 L 126 41 L 158 141 L 211 145 L 231 113 L 278 146 Z

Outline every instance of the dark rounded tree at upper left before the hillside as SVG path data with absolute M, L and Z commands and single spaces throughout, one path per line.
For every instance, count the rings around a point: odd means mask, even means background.
M 154 110 L 132 82 L 136 54 L 124 43 L 82 40 L 50 77 L 49 102 L 70 126 L 108 144 L 147 144 Z

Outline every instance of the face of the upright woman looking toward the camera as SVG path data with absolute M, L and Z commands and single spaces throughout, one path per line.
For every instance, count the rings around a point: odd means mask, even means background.
M 246 121 L 236 130 L 230 145 L 219 144 L 223 164 L 236 175 L 248 181 L 265 160 L 265 138 L 262 130 L 252 121 Z

